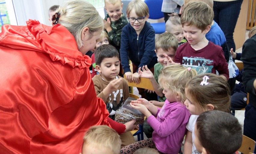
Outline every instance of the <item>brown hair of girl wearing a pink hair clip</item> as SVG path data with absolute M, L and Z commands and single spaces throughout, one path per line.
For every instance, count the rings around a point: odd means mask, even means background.
M 209 77 L 209 84 L 202 86 L 204 76 Z M 206 109 L 207 104 L 212 104 L 214 110 L 230 112 L 230 89 L 224 78 L 212 73 L 200 74 L 187 82 L 186 89 L 195 103 L 203 109 Z

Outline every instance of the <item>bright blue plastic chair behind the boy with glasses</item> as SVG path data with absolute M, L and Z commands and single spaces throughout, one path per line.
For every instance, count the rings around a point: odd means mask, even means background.
M 149 9 L 149 19 L 161 19 L 163 18 L 162 3 L 163 0 L 145 0 Z M 162 34 L 165 32 L 165 23 L 151 23 L 156 34 Z

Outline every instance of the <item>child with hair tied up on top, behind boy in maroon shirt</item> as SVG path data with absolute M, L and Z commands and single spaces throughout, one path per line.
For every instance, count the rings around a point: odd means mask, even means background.
M 165 23 L 165 31 L 172 33 L 178 40 L 178 46 L 187 42 L 184 39 L 184 32 L 181 26 L 181 18 L 178 14 L 170 14 L 169 20 Z

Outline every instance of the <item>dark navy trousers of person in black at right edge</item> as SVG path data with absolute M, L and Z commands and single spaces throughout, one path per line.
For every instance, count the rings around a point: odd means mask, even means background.
M 245 107 L 244 133 L 245 136 L 256 140 L 256 109 L 249 103 Z

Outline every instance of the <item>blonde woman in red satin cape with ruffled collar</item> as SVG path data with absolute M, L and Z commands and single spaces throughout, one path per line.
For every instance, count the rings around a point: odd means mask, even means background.
M 108 118 L 97 98 L 84 55 L 103 30 L 96 9 L 67 1 L 52 26 L 36 20 L 3 25 L 0 33 L 0 153 L 81 152 L 84 132 L 108 125 L 119 134 L 134 128 Z

